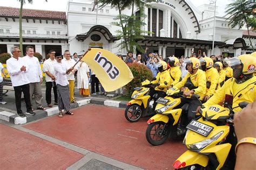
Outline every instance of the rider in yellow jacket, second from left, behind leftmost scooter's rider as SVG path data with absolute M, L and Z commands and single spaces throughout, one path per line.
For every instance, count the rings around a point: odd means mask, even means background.
M 170 68 L 168 69 L 168 72 L 171 76 L 171 87 L 176 85 L 181 80 L 181 70 L 179 68 L 179 59 L 175 56 L 169 57 L 168 60 Z

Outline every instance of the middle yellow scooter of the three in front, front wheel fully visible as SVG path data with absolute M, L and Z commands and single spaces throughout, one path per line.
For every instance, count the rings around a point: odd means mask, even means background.
M 189 86 L 191 86 L 191 83 L 185 83 L 185 87 Z M 189 90 L 188 88 L 186 89 Z M 161 145 L 169 137 L 175 138 L 185 134 L 178 133 L 177 128 L 180 121 L 185 121 L 184 119 L 187 117 L 188 104 L 184 104 L 181 108 L 173 109 L 181 103 L 182 97 L 184 97 L 183 91 L 171 88 L 167 90 L 166 97 L 160 97 L 156 101 L 158 103 L 155 110 L 157 114 L 147 121 L 148 126 L 146 129 L 146 139 L 151 145 Z M 192 95 L 191 99 L 199 101 L 199 96 Z

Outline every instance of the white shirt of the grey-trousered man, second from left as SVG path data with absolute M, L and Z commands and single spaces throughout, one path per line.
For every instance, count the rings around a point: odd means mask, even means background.
M 29 67 L 26 77 L 29 79 L 30 83 L 40 82 L 40 78 L 43 78 L 43 75 L 38 58 L 26 55 L 23 59 Z

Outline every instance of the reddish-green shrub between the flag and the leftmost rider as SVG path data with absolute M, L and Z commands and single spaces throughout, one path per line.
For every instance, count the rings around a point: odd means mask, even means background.
M 142 86 L 144 80 L 151 80 L 153 75 L 149 68 L 145 65 L 139 65 L 138 63 L 129 63 L 128 67 L 130 68 L 133 74 L 133 80 L 126 84 L 126 95 L 131 96 L 135 87 Z

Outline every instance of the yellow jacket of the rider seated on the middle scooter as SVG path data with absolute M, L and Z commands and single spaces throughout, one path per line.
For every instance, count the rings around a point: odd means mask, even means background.
M 206 94 L 206 76 L 205 72 L 203 70 L 198 69 L 196 74 L 190 74 L 187 73 L 187 75 L 178 82 L 174 88 L 180 89 L 184 86 L 184 84 L 187 82 L 188 78 L 190 78 L 193 85 L 197 88 L 193 89 L 195 94 L 198 94 L 200 96 L 200 100 L 203 100 L 203 97 Z

